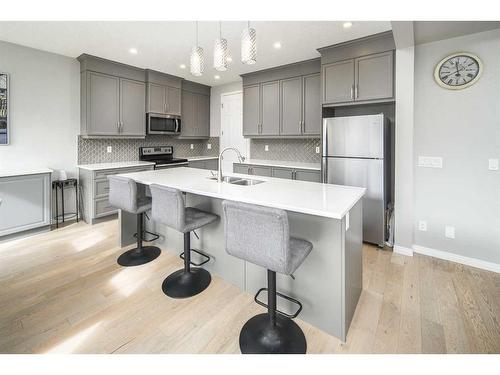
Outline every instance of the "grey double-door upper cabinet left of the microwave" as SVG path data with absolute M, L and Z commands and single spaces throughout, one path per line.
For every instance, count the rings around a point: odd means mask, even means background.
M 81 124 L 84 137 L 144 138 L 144 70 L 81 55 Z

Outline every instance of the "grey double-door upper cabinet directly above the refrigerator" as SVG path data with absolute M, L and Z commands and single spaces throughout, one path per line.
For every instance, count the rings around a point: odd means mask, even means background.
M 392 32 L 321 48 L 323 106 L 394 100 Z

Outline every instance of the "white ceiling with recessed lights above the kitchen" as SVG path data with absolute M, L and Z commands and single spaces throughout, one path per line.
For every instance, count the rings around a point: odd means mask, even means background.
M 265 68 L 319 57 L 316 51 L 347 40 L 387 31 L 390 22 L 353 21 L 350 29 L 342 21 L 259 21 L 257 64 L 240 62 L 241 31 L 246 21 L 223 21 L 222 36 L 228 40 L 233 62 L 226 72 L 213 68 L 213 44 L 218 22 L 199 22 L 199 44 L 205 50 L 202 77 L 189 73 L 189 53 L 195 44 L 194 21 L 166 22 L 0 22 L 0 40 L 17 43 L 69 57 L 82 53 L 149 68 L 210 86 L 238 81 L 239 75 Z M 277 50 L 273 43 L 280 41 Z M 138 54 L 129 53 L 137 48 Z M 179 65 L 186 64 L 182 70 Z M 214 76 L 220 79 L 215 80 Z

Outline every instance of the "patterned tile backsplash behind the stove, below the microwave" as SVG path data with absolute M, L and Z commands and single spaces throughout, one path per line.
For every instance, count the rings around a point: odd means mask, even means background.
M 207 145 L 211 144 L 209 150 Z M 191 149 L 193 145 L 193 149 Z M 107 152 L 111 146 L 112 152 Z M 165 135 L 147 135 L 144 139 L 92 139 L 78 137 L 78 164 L 112 163 L 138 160 L 139 147 L 173 146 L 175 157 L 217 156 L 219 138 L 179 139 Z

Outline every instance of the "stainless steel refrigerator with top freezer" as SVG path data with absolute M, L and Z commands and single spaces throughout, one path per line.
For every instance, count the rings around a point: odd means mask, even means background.
M 323 182 L 366 188 L 363 241 L 384 246 L 391 209 L 390 124 L 383 114 L 323 119 Z

